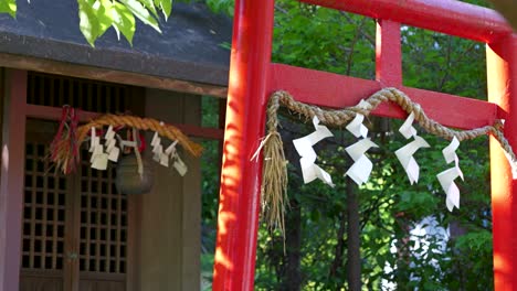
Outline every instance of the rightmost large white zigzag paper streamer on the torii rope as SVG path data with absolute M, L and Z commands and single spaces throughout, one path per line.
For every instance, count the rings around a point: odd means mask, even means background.
M 456 137 L 453 138 L 451 143 L 443 149 L 442 153 L 447 163 L 454 162 L 454 168 L 445 170 L 436 175 L 442 185 L 443 191 L 446 193 L 445 204 L 447 209 L 452 212 L 454 207 L 460 208 L 460 188 L 454 180 L 461 177 L 463 180 L 463 172 L 460 169 L 460 159 L 457 158 L 456 150 L 460 147 L 460 141 Z

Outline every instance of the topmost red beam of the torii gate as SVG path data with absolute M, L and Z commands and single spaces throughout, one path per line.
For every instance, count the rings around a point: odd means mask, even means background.
M 492 43 L 511 33 L 496 11 L 452 0 L 299 0 L 411 26 Z

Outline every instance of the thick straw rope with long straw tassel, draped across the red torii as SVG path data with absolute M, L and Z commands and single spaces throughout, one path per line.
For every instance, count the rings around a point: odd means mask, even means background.
M 317 116 L 321 123 L 339 127 L 346 125 L 349 120 L 356 117 L 356 114 L 367 116 L 381 103 L 392 101 L 398 104 L 408 114 L 413 112 L 414 119 L 428 132 L 446 140 L 451 140 L 453 137 L 456 137 L 456 139 L 462 141 L 492 133 L 494 138 L 499 141 L 502 148 L 507 154 L 514 173 L 517 172 L 517 159 L 511 147 L 503 134 L 503 122 L 500 120 L 497 120 L 493 126 L 485 126 L 471 130 L 453 130 L 430 119 L 419 104 L 413 103 L 404 93 L 397 88 L 381 89 L 371 95 L 365 101 L 366 105 L 363 107 L 352 106 L 341 110 L 325 110 L 315 106 L 298 103 L 294 100 L 293 96 L 287 91 L 275 91 L 270 97 L 270 104 L 266 112 L 267 136 L 264 139 L 264 182 L 262 188 L 263 212 L 270 227 L 277 227 L 282 233 L 285 230 L 284 212 L 285 203 L 287 201 L 287 162 L 284 155 L 282 138 L 277 131 L 277 112 L 281 106 L 285 106 L 291 111 L 298 112 L 307 119 L 312 119 L 314 116 Z

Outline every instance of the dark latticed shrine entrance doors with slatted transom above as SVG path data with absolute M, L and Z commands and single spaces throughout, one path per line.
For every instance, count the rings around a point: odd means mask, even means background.
M 29 73 L 28 90 L 36 106 L 138 109 L 128 86 Z M 48 159 L 56 132 L 56 122 L 27 121 L 20 290 L 127 290 L 136 206 L 115 187 L 115 166 L 89 166 L 87 148 L 74 174 L 56 171 Z

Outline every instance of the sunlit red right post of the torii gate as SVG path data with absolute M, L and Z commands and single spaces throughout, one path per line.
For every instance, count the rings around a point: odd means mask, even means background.
M 487 47 L 488 98 L 500 106 L 506 120 L 505 137 L 517 149 L 517 36 Z M 494 235 L 495 290 L 517 290 L 517 180 L 490 138 L 492 219 Z

